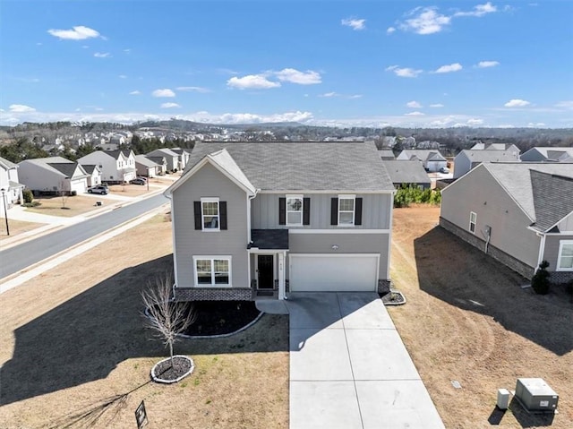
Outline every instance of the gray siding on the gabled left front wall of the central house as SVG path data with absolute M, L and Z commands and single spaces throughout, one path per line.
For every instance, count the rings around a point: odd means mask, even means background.
M 227 230 L 195 230 L 193 202 L 218 197 L 227 202 Z M 249 287 L 246 194 L 209 164 L 173 193 L 177 287 L 193 287 L 193 255 L 230 255 L 233 287 Z

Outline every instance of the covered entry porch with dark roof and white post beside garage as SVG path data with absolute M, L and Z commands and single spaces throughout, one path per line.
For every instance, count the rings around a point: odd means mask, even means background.
M 287 229 L 252 229 L 249 252 L 249 282 L 253 296 L 285 299 Z

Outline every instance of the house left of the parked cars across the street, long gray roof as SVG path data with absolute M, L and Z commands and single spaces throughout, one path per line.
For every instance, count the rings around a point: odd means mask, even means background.
M 18 164 L 22 184 L 34 193 L 85 193 L 88 173 L 62 157 L 25 159 Z

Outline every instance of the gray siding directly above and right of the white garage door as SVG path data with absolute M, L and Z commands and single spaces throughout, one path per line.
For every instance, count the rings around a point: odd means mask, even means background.
M 380 253 L 379 279 L 389 279 L 389 234 L 289 234 L 289 255 L 295 253 Z M 333 250 L 332 245 L 338 245 Z M 288 274 L 287 274 L 288 279 Z

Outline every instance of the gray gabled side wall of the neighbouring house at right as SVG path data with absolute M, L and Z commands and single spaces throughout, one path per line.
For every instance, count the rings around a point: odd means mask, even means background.
M 536 267 L 540 238 L 527 227 L 531 220 L 484 167 L 472 172 L 442 191 L 443 219 L 469 231 L 470 211 L 477 215 L 475 236 L 483 240 L 483 230 L 492 227 L 490 245 L 530 267 Z

